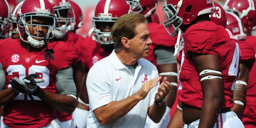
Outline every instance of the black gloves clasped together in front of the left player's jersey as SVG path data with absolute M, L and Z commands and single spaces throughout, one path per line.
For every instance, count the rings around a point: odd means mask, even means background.
M 34 79 L 40 77 L 38 74 L 31 74 L 22 80 L 17 77 L 11 78 L 10 84 L 13 89 L 18 93 L 37 95 L 40 87 L 36 83 L 44 82 L 44 79 Z

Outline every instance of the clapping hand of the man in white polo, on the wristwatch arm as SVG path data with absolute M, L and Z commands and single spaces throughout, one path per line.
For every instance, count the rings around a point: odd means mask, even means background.
M 159 88 L 155 95 L 155 100 L 158 102 L 164 99 L 168 95 L 171 86 L 172 84 L 170 84 L 170 82 L 167 81 L 167 77 L 164 77 L 163 82 L 159 85 Z

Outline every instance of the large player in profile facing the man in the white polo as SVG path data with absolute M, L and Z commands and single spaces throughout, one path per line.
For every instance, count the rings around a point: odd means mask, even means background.
M 244 127 L 231 111 L 241 54 L 231 32 L 210 21 L 215 10 L 212 0 L 167 0 L 163 6 L 170 35 L 184 32 L 177 98 L 185 128 Z

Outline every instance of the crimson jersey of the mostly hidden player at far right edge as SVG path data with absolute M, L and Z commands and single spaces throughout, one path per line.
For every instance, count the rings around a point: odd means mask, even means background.
M 254 49 L 256 56 L 256 36 L 248 35 L 246 40 L 252 48 Z M 256 126 L 256 63 L 252 67 L 249 73 L 249 81 L 247 83 L 247 93 L 246 93 L 246 102 L 245 110 L 242 117 L 242 122 L 245 128 L 254 128 Z

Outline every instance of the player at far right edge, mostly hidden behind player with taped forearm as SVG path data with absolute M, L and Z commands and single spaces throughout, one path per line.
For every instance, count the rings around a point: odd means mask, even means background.
M 224 8 L 228 8 L 229 11 L 234 12 L 243 22 L 247 30 L 247 38 L 245 42 L 249 43 L 254 51 L 256 51 L 256 11 L 255 0 L 227 0 L 224 4 Z M 256 52 L 255 52 L 256 54 Z M 256 89 L 256 80 L 254 76 L 256 75 L 256 66 L 252 67 L 249 72 L 249 79 L 247 82 L 247 93 L 246 99 L 243 103 L 244 112 L 241 115 L 241 120 L 245 125 L 245 128 L 254 128 L 256 127 L 256 111 L 255 111 L 255 89 Z M 246 82 L 246 81 L 244 81 Z M 245 85 L 245 84 L 244 84 Z M 241 104 L 241 102 L 238 102 Z

